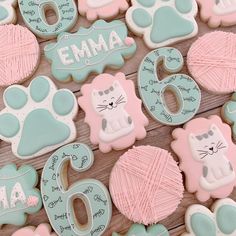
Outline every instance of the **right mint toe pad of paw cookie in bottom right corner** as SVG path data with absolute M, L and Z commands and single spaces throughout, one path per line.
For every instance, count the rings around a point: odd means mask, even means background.
M 216 214 L 218 228 L 224 234 L 231 235 L 236 232 L 236 207 L 224 205 Z

